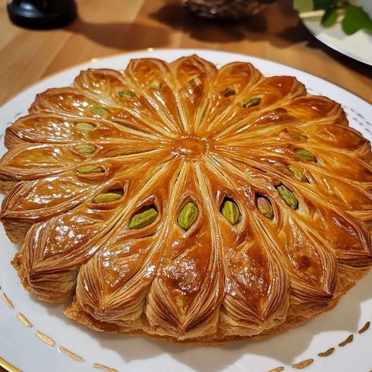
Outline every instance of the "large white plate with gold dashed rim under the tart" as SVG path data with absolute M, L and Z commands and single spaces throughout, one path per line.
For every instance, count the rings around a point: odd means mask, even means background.
M 372 140 L 372 107 L 366 101 L 330 82 L 259 58 L 219 51 L 194 49 L 164 49 L 139 51 L 91 61 L 42 80 L 12 99 L 0 109 L 0 132 L 16 117 L 26 113 L 35 94 L 49 87 L 63 87 L 73 82 L 82 69 L 125 68 L 130 58 L 157 57 L 167 61 L 196 53 L 217 66 L 231 61 L 252 62 L 265 75 L 294 75 L 313 94 L 339 101 L 347 111 L 350 125 Z M 0 154 L 6 151 L 1 140 Z M 0 298 L 0 357 L 24 372 L 34 371 L 98 371 L 101 364 L 125 372 L 266 372 L 273 368 L 294 371 L 291 365 L 301 361 L 312 363 L 309 371 L 370 371 L 372 369 L 372 327 L 358 333 L 372 316 L 372 275 L 361 280 L 342 298 L 336 309 L 323 314 L 299 328 L 262 341 L 235 342 L 221 347 L 173 345 L 149 340 L 146 337 L 111 335 L 89 330 L 63 316 L 63 306 L 45 304 L 27 294 L 10 265 L 17 247 L 9 242 L 0 229 L 0 295 L 6 294 L 13 303 Z M 16 317 L 23 314 L 32 323 L 27 327 Z M 50 337 L 41 340 L 37 331 Z M 337 346 L 353 335 L 354 340 L 344 347 Z M 55 345 L 48 345 L 45 341 Z M 65 347 L 81 356 L 77 361 L 61 352 Z M 330 356 L 318 356 L 332 347 Z M 4 362 L 2 362 L 4 364 Z M 1 359 L 0 359 L 1 365 Z M 112 370 L 115 371 L 115 370 Z M 107 370 L 111 371 L 111 370 Z

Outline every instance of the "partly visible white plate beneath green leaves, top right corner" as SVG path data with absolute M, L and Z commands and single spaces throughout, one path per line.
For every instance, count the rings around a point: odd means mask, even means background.
M 372 16 L 372 1 L 359 0 L 359 4 Z M 304 19 L 304 25 L 316 37 L 336 51 L 372 66 L 372 34 L 358 31 L 354 35 L 345 35 L 340 23 L 333 27 L 321 26 L 321 17 Z

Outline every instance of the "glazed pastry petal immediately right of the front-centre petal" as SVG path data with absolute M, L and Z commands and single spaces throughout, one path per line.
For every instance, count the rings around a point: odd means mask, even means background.
M 237 188 L 233 179 L 220 173 L 213 163 L 209 168 L 211 189 L 217 196 L 226 275 L 220 328 L 225 335 L 256 335 L 287 318 L 289 279 L 280 256 L 256 219 L 256 206 L 245 188 Z M 223 213 L 218 213 L 226 196 L 239 206 L 237 225 L 231 225 Z

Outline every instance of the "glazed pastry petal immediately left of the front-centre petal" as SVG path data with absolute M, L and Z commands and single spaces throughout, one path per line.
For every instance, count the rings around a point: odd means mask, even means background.
M 145 297 L 161 263 L 170 225 L 174 223 L 165 211 L 173 200 L 179 169 L 180 161 L 169 162 L 129 192 L 130 202 L 104 248 L 82 267 L 76 302 L 93 318 L 141 322 Z M 132 216 L 146 206 L 156 209 L 156 218 L 131 228 Z

